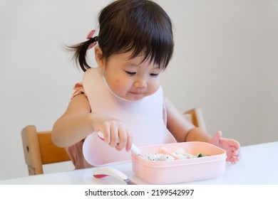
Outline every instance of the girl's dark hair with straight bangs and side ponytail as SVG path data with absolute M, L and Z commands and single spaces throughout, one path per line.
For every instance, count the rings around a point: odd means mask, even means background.
M 165 70 L 172 58 L 172 23 L 168 14 L 153 1 L 113 1 L 100 12 L 98 23 L 97 39 L 104 59 L 133 50 L 130 58 L 143 52 L 143 61 L 149 59 Z M 70 47 L 83 71 L 91 68 L 86 62 L 86 51 L 93 42 L 90 39 Z

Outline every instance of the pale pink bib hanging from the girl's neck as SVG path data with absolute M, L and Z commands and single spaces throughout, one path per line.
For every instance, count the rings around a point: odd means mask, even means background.
M 105 114 L 125 124 L 136 146 L 168 144 L 176 142 L 163 121 L 163 90 L 136 102 L 125 102 L 115 97 L 106 87 L 100 69 L 91 68 L 83 77 L 83 88 L 92 112 Z M 131 152 L 117 151 L 105 144 L 96 132 L 89 135 L 83 144 L 83 155 L 93 166 L 130 161 Z

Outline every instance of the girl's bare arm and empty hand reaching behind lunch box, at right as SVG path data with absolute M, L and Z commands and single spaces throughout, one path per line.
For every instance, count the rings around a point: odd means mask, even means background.
M 217 131 L 214 136 L 210 136 L 207 132 L 195 127 L 188 122 L 175 106 L 165 99 L 167 110 L 167 127 L 179 142 L 182 141 L 205 141 L 215 146 L 219 146 L 227 152 L 227 161 L 236 163 L 240 160 L 240 143 L 235 139 L 222 138 L 221 131 Z

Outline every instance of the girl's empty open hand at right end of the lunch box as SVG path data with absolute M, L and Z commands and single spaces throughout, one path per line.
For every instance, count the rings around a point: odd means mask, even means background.
M 240 143 L 235 139 L 222 138 L 221 131 L 217 131 L 215 135 L 212 136 L 210 144 L 214 144 L 215 146 L 218 146 L 226 151 L 226 161 L 230 161 L 230 163 L 232 164 L 237 163 L 237 161 L 240 161 Z

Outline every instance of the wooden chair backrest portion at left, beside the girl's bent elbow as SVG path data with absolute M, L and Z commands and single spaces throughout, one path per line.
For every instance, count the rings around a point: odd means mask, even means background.
M 51 131 L 38 132 L 34 125 L 29 125 L 22 129 L 21 139 L 29 176 L 43 174 L 44 164 L 70 161 L 66 150 L 53 144 Z

